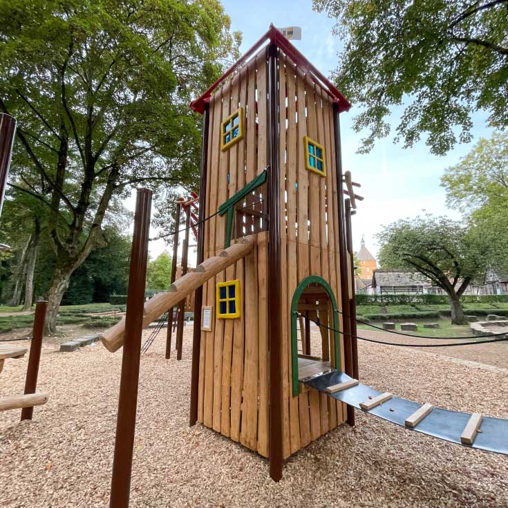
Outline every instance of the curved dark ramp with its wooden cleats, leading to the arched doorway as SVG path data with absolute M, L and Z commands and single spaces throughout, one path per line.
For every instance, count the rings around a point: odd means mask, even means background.
M 300 382 L 406 429 L 470 448 L 508 455 L 508 420 L 504 418 L 448 411 L 431 404 L 400 399 L 361 384 L 338 370 L 300 379 Z

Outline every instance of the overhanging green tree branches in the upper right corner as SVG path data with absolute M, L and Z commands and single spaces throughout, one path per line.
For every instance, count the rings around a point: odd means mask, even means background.
M 313 0 L 337 19 L 344 39 L 335 81 L 364 106 L 360 151 L 390 132 L 386 117 L 404 105 L 396 140 L 426 133 L 433 153 L 471 140 L 471 113 L 508 126 L 508 0 Z M 458 132 L 458 135 L 457 135 Z

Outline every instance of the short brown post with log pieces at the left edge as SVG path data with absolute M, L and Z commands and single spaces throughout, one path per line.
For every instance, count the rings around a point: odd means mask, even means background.
M 30 344 L 28 367 L 26 368 L 25 392 L 23 395 L 0 398 L 0 411 L 9 409 L 21 409 L 21 420 L 32 420 L 33 407 L 41 406 L 48 402 L 46 393 L 36 393 L 37 375 L 39 373 L 39 361 L 41 359 L 42 337 L 44 336 L 44 319 L 46 317 L 46 302 L 38 301 L 35 307 L 35 318 Z M 27 352 L 27 348 L 0 344 L 0 373 L 3 364 L 8 358 L 21 358 Z

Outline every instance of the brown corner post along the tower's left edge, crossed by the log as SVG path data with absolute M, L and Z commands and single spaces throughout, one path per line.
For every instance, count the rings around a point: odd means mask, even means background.
M 205 212 L 207 207 L 207 165 L 208 165 L 208 135 L 209 135 L 209 104 L 205 104 L 203 113 L 203 146 L 201 147 L 201 180 L 199 183 L 199 216 L 198 216 L 198 256 L 196 266 L 205 259 Z M 201 307 L 203 306 L 203 286 L 194 293 L 194 330 L 192 332 L 192 368 L 191 368 L 191 411 L 189 424 L 193 426 L 198 421 L 198 386 L 199 386 L 199 356 L 201 349 Z

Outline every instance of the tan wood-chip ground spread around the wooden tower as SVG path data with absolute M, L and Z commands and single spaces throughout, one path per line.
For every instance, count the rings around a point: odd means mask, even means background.
M 164 360 L 163 334 L 142 357 L 132 508 L 508 506 L 507 457 L 360 411 L 355 429 L 341 426 L 299 451 L 275 484 L 263 458 L 203 426 L 189 429 L 191 330 L 182 361 Z M 504 371 L 366 343 L 359 359 L 362 382 L 379 390 L 508 417 Z M 121 352 L 102 346 L 44 346 L 39 389 L 48 404 L 32 422 L 20 424 L 19 411 L 0 413 L 1 507 L 108 506 L 120 364 Z M 0 396 L 22 393 L 25 370 L 26 358 L 6 361 Z

